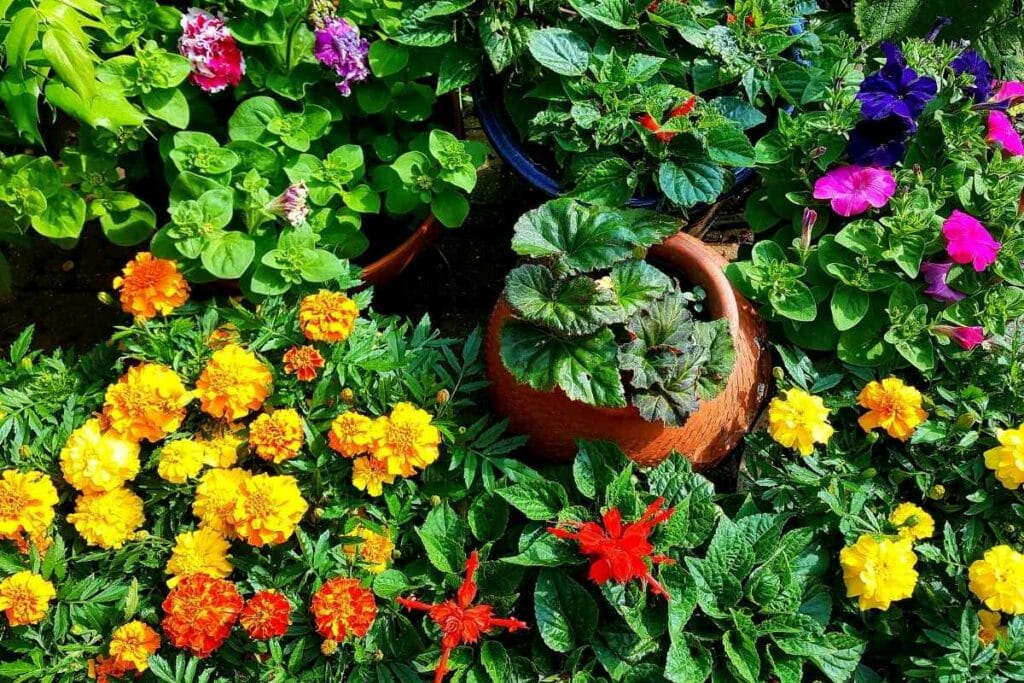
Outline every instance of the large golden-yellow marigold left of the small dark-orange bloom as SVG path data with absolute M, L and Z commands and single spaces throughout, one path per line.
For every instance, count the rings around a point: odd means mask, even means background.
M 270 394 L 273 377 L 256 354 L 238 344 L 213 352 L 196 381 L 203 411 L 215 418 L 239 420 L 258 411 Z

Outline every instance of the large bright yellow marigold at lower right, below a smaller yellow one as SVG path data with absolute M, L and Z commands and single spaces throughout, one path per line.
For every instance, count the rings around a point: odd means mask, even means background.
M 840 551 L 839 561 L 846 596 L 856 597 L 861 611 L 889 609 L 893 602 L 909 598 L 918 585 L 918 556 L 909 541 L 880 541 L 864 533 Z

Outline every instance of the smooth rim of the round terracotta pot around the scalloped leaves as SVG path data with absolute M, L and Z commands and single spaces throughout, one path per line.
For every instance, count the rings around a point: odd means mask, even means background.
M 662 244 L 652 247 L 647 254 L 646 260 L 653 260 L 655 262 L 663 263 L 667 262 L 669 259 L 664 256 L 664 254 L 667 253 L 682 255 L 683 260 L 687 264 L 687 268 L 683 270 L 682 274 L 689 279 L 693 285 L 702 287 L 707 292 L 708 298 L 706 301 L 708 303 L 708 308 L 711 311 L 712 319 L 717 321 L 725 318 L 729 322 L 729 336 L 733 340 L 733 347 L 735 348 L 735 338 L 740 334 L 739 304 L 736 301 L 736 291 L 733 289 L 732 284 L 729 282 L 729 279 L 725 275 L 725 271 L 723 270 L 723 266 L 725 264 L 724 257 L 712 250 L 700 240 L 682 231 L 668 238 Z M 667 267 L 671 271 L 680 270 L 680 268 L 671 264 Z M 506 312 L 508 319 L 514 319 L 516 317 L 511 304 L 506 301 L 504 295 L 499 298 L 493 314 L 500 315 L 500 311 L 502 311 L 503 308 L 505 309 L 504 312 Z M 499 339 L 501 338 L 501 331 L 504 325 L 505 324 L 502 323 L 502 326 L 498 328 Z M 505 361 L 501 359 L 499 361 L 504 367 Z M 508 368 L 505 368 L 505 371 L 507 372 Z M 732 373 L 735 372 L 735 368 L 733 368 Z M 622 373 L 621 369 L 620 373 Z M 732 373 L 730 373 L 730 377 L 732 376 Z M 532 387 L 530 388 L 532 389 Z M 540 389 L 534 390 L 541 391 Z M 569 398 L 569 396 L 557 386 L 544 393 L 559 394 L 565 400 L 580 405 L 585 405 L 589 411 L 592 411 L 597 415 L 615 418 L 617 420 L 635 419 L 647 424 L 654 424 L 651 423 L 651 421 L 644 419 L 644 417 L 640 415 L 640 411 L 635 405 L 626 405 L 624 408 L 592 405 L 582 400 Z M 710 400 L 715 400 L 716 398 L 718 398 L 718 396 Z M 710 400 L 702 398 L 699 399 L 697 410 L 699 410 L 699 408 L 705 403 L 710 402 Z

